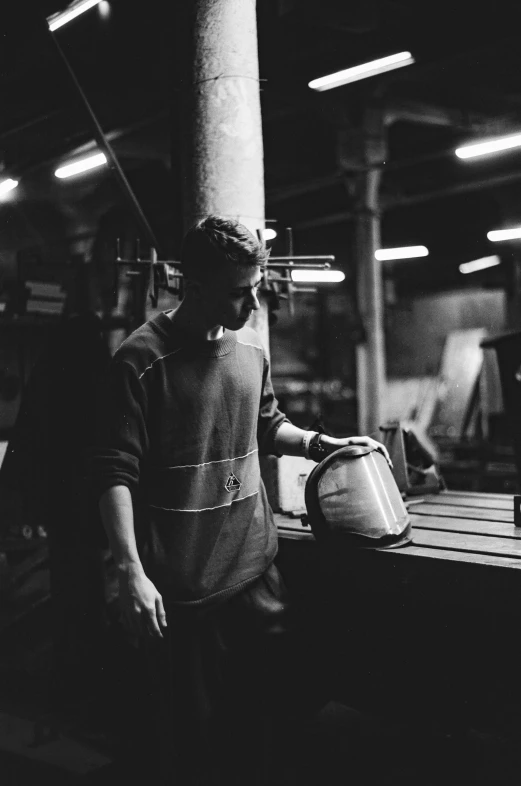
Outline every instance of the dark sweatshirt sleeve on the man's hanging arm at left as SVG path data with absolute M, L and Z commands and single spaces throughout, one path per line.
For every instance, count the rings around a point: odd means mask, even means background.
M 91 474 L 99 497 L 111 486 L 133 490 L 148 451 L 147 395 L 132 365 L 114 358 L 101 406 Z

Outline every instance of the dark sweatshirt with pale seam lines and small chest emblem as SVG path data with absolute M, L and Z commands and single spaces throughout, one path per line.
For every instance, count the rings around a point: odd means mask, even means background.
M 95 485 L 131 490 L 143 566 L 167 602 L 217 602 L 272 563 L 259 453 L 275 452 L 285 420 L 248 327 L 197 340 L 160 313 L 114 355 Z

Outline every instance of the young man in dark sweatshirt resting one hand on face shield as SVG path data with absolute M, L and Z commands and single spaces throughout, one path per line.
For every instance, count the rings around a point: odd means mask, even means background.
M 171 703 L 162 718 L 175 718 L 160 724 L 160 753 L 179 783 L 220 783 L 218 773 L 255 783 L 244 757 L 235 776 L 226 768 L 251 750 L 246 718 L 255 723 L 283 687 L 274 690 L 267 666 L 280 663 L 290 607 L 259 452 L 318 460 L 370 444 L 385 454 L 366 437 L 319 440 L 278 410 L 266 354 L 246 327 L 266 256 L 236 221 L 208 216 L 189 230 L 185 297 L 116 353 L 96 455 L 122 618 L 148 642 L 149 662 L 162 661 L 151 679 Z M 167 782 L 168 763 L 162 770 Z

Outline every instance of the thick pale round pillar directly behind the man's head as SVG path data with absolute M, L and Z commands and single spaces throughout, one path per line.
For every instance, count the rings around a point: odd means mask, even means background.
M 185 229 L 217 213 L 264 229 L 255 0 L 185 3 L 182 134 Z M 267 308 L 255 315 L 266 348 Z

